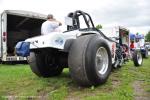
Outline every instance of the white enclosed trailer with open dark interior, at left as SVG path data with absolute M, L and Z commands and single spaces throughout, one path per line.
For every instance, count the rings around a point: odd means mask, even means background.
M 25 57 L 15 55 L 15 45 L 19 41 L 41 34 L 41 24 L 46 15 L 22 11 L 5 10 L 0 15 L 0 61 L 26 61 Z

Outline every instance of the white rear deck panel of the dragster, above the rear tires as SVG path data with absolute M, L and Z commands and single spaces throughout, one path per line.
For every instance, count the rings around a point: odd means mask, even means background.
M 30 42 L 30 49 L 35 48 L 57 48 L 64 49 L 66 40 L 76 39 L 79 31 L 71 31 L 67 33 L 53 32 L 47 35 L 41 35 L 27 39 L 26 42 Z

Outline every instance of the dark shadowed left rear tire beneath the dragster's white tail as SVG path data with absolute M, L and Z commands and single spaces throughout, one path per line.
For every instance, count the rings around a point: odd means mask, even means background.
M 63 68 L 58 66 L 51 55 L 43 52 L 31 52 L 29 65 L 37 76 L 51 77 L 61 74 Z

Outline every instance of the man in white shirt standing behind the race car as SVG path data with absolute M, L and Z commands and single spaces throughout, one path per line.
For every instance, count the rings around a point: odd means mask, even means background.
M 52 14 L 48 14 L 47 20 L 42 23 L 41 34 L 46 35 L 51 32 L 56 32 L 57 28 L 61 25 L 62 23 L 57 21 Z

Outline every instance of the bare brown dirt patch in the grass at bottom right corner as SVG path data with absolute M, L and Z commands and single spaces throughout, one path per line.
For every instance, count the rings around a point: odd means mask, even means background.
M 141 86 L 142 81 L 135 81 L 133 83 L 133 89 L 134 89 L 134 99 L 135 100 L 150 100 L 150 93 L 144 91 L 144 89 Z

